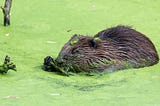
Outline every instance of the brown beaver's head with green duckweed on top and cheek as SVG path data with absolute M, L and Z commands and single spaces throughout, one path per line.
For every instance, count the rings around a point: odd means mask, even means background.
M 78 67 L 81 70 L 91 69 L 103 62 L 105 41 L 83 35 L 74 35 L 64 45 L 56 61 L 60 66 Z M 98 67 L 98 66 L 97 66 Z

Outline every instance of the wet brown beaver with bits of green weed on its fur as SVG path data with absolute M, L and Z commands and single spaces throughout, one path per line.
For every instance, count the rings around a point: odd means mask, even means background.
M 75 34 L 56 60 L 49 58 L 45 58 L 45 63 L 52 60 L 63 72 L 113 72 L 152 66 L 159 61 L 151 40 L 123 25 L 100 31 L 93 37 Z

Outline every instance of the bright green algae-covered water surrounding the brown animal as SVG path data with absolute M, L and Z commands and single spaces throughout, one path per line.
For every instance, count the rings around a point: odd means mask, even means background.
M 0 1 L 3 5 L 3 0 Z M 11 26 L 0 14 L 0 106 L 160 106 L 160 64 L 106 75 L 62 76 L 41 69 L 75 33 L 94 35 L 119 24 L 147 35 L 160 54 L 159 0 L 13 0 Z

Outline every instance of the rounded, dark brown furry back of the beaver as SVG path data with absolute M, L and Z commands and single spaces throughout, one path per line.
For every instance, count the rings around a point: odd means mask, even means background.
M 117 60 L 120 60 L 120 62 L 126 61 L 132 67 L 151 66 L 159 61 L 155 46 L 150 39 L 130 27 L 112 27 L 99 32 L 94 37 L 112 43 Z M 106 45 L 106 52 L 107 50 Z M 121 68 L 126 67 L 119 67 L 119 69 Z

